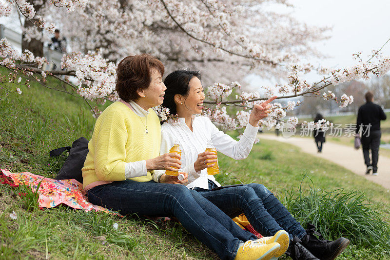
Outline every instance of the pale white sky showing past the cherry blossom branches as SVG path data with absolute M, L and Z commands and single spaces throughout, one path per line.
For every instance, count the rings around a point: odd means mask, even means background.
M 355 64 L 353 53 L 362 53 L 366 59 L 373 49 L 379 49 L 390 39 L 390 0 L 291 0 L 295 7 L 286 8 L 279 4 L 270 5 L 277 12 L 291 12 L 297 20 L 311 26 L 329 26 L 331 38 L 313 45 L 327 59 L 312 58 L 313 65 L 324 67 L 349 67 Z M 390 42 L 382 49 L 384 55 L 390 56 Z M 366 59 L 367 60 L 367 59 Z M 318 81 L 322 77 L 311 73 L 309 82 Z M 274 84 L 250 75 L 246 78 L 251 88 Z M 273 82 L 273 83 L 272 83 Z

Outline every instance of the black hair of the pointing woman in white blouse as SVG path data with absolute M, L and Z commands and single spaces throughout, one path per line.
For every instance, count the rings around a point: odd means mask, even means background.
M 165 90 L 164 102 L 162 105 L 169 108 L 169 114 L 177 114 L 175 95 L 179 94 L 184 97 L 188 96 L 190 91 L 190 80 L 194 77 L 200 80 L 199 71 L 176 70 L 165 78 L 164 84 L 167 89 Z

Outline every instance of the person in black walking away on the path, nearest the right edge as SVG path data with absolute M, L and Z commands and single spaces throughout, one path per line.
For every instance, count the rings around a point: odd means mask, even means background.
M 356 134 L 361 136 L 366 174 L 378 175 L 379 144 L 381 142 L 381 120 L 386 120 L 382 107 L 373 103 L 374 95 L 368 91 L 364 96 L 366 103 L 359 107 L 356 120 Z M 370 149 L 371 158 L 370 160 Z

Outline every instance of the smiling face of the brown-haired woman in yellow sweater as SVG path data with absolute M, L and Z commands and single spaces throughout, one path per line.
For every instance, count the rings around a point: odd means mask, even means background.
M 157 69 L 151 69 L 151 78 L 152 80 L 149 87 L 137 91 L 141 98 L 136 102 L 145 110 L 161 105 L 164 101 L 165 90 L 167 89 L 164 82 L 162 82 L 161 74 Z

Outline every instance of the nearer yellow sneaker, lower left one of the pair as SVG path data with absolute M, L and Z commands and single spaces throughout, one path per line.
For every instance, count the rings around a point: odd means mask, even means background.
M 280 248 L 279 243 L 254 243 L 252 240 L 246 241 L 237 250 L 234 260 L 270 260 Z

